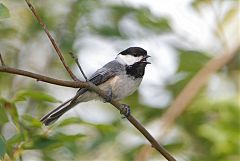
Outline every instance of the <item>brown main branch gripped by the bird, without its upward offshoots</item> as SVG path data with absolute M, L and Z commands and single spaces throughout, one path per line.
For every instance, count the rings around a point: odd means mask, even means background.
M 30 77 L 38 81 L 51 83 L 59 86 L 73 87 L 73 88 L 87 88 L 91 91 L 96 92 L 103 98 L 107 97 L 105 92 L 103 92 L 99 87 L 97 87 L 96 85 L 90 82 L 63 81 L 63 80 L 43 76 L 40 74 L 36 74 L 36 73 L 32 73 L 32 72 L 28 72 L 28 71 L 24 71 L 16 68 L 3 67 L 3 66 L 0 66 L 0 72 Z M 112 100 L 110 103 L 114 107 L 116 107 L 119 111 L 121 111 L 122 106 L 119 102 Z M 147 140 L 152 144 L 152 147 L 154 147 L 157 151 L 159 151 L 168 161 L 175 161 L 175 159 L 170 155 L 170 153 L 166 149 L 164 149 L 164 147 L 162 147 L 154 139 L 154 137 L 132 115 L 129 115 L 127 119 L 129 120 L 129 122 L 133 124 L 133 126 L 135 126 L 147 138 Z

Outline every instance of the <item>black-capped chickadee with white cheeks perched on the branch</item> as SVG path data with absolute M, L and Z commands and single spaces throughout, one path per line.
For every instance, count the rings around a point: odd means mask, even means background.
M 117 54 L 116 58 L 93 73 L 87 80 L 98 86 L 107 97 L 102 98 L 97 93 L 86 88 L 80 88 L 76 95 L 65 101 L 54 110 L 43 116 L 40 121 L 45 125 L 51 125 L 64 113 L 81 102 L 100 100 L 110 102 L 119 101 L 133 94 L 142 82 L 150 55 L 141 47 L 129 47 Z M 130 115 L 130 107 L 122 104 L 124 117 Z

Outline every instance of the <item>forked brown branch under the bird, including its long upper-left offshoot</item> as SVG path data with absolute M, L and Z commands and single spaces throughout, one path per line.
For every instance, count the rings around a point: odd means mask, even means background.
M 64 58 L 61 54 L 61 51 L 58 48 L 58 46 L 56 45 L 55 40 L 52 38 L 49 31 L 47 30 L 46 25 L 42 22 L 40 17 L 36 14 L 36 11 L 35 11 L 34 7 L 29 2 L 29 0 L 25 0 L 25 1 L 28 4 L 28 6 L 29 6 L 30 10 L 32 11 L 33 15 L 35 16 L 35 18 L 38 20 L 38 22 L 40 23 L 40 25 L 42 26 L 42 28 L 46 32 L 46 34 L 47 34 L 48 38 L 50 39 L 54 49 L 57 52 L 61 62 L 63 63 L 65 69 L 68 71 L 69 75 L 71 76 L 71 78 L 74 81 L 63 81 L 63 80 L 43 76 L 43 75 L 40 75 L 40 74 L 36 74 L 36 73 L 32 73 L 32 72 L 28 72 L 28 71 L 24 71 L 24 70 L 20 70 L 20 69 L 6 67 L 6 66 L 3 66 L 4 63 L 3 63 L 2 58 L 1 58 L 2 66 L 0 66 L 0 72 L 21 75 L 21 76 L 36 79 L 37 81 L 42 81 L 42 82 L 55 84 L 55 85 L 60 85 L 60 86 L 65 86 L 65 87 L 87 88 L 87 89 L 89 89 L 91 91 L 94 91 L 95 93 L 99 94 L 102 98 L 106 98 L 107 95 L 99 87 L 97 87 L 96 85 L 94 85 L 91 82 L 82 82 L 82 81 L 79 81 L 76 78 L 76 76 L 71 72 L 69 67 L 66 65 L 66 63 L 64 61 Z M 83 73 L 83 75 L 84 75 L 84 73 Z M 110 103 L 121 112 L 122 105 L 119 102 L 111 100 Z M 154 147 L 158 152 L 160 152 L 168 161 L 176 161 L 170 155 L 170 153 L 168 153 L 168 151 L 166 149 L 164 149 L 164 147 L 162 147 L 154 139 L 154 137 L 131 114 L 127 117 L 127 119 L 128 119 L 129 122 L 131 122 L 133 124 L 134 127 L 136 127 L 147 138 L 147 140 L 152 144 L 152 147 Z

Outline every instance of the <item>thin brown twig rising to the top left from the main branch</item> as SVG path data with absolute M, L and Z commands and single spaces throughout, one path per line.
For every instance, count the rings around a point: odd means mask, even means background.
M 43 23 L 42 19 L 38 16 L 38 14 L 36 13 L 35 8 L 33 7 L 33 5 L 29 2 L 29 0 L 25 0 L 29 9 L 32 11 L 34 17 L 37 19 L 37 21 L 39 22 L 39 24 L 42 26 L 43 30 L 45 31 L 45 33 L 47 34 L 49 40 L 51 41 L 56 53 L 58 54 L 58 57 L 60 58 L 63 66 L 65 67 L 65 69 L 67 70 L 67 72 L 69 73 L 70 77 L 75 80 L 75 81 L 79 81 L 77 79 L 77 77 L 73 74 L 73 72 L 70 70 L 70 68 L 66 65 L 63 54 L 60 50 L 60 48 L 57 46 L 55 40 L 53 39 L 53 37 L 51 36 L 50 32 L 48 31 L 46 25 Z

